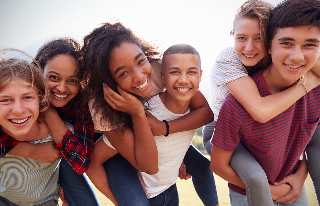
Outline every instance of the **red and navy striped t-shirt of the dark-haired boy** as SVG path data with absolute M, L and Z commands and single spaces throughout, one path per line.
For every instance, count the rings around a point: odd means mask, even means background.
M 262 97 L 271 95 L 263 70 L 251 76 Z M 222 104 L 211 143 L 233 151 L 241 141 L 266 172 L 268 181 L 283 180 L 295 172 L 319 121 L 320 87 L 266 123 L 256 122 L 231 94 Z M 229 188 L 245 190 L 229 183 Z

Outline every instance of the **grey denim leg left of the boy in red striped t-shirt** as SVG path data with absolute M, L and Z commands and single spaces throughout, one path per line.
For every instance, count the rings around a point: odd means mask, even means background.
M 229 164 L 244 182 L 249 206 L 273 205 L 266 173 L 241 143 L 233 152 Z

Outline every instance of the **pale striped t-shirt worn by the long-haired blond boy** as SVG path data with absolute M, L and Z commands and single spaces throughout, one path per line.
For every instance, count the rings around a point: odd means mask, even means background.
M 66 124 L 73 131 L 71 124 Z M 51 134 L 45 139 L 31 142 L 39 144 L 53 141 Z M 53 144 L 53 142 L 52 142 Z M 59 163 L 5 155 L 0 159 L 0 196 L 20 206 L 32 206 L 58 200 Z

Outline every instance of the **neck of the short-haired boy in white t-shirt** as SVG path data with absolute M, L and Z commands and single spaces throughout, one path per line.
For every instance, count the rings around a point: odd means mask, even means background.
M 159 95 L 164 106 L 174 114 L 184 114 L 189 109 L 190 99 L 187 102 L 180 102 L 174 99 L 167 91 Z

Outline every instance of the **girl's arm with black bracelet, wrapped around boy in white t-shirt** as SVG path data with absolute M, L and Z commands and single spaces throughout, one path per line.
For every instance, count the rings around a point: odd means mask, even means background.
M 170 133 L 181 131 L 195 130 L 203 125 L 211 123 L 214 120 L 214 114 L 201 91 L 191 98 L 190 109 L 192 112 L 179 117 L 174 120 L 168 121 Z M 148 122 L 153 135 L 165 135 L 167 128 L 164 122 L 159 121 L 149 112 L 146 112 Z

